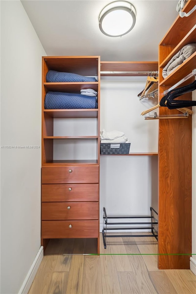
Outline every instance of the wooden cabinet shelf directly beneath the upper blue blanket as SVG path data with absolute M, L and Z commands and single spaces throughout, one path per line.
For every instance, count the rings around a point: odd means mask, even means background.
M 98 82 L 79 83 L 44 83 L 48 91 L 80 93 L 81 89 L 93 89 L 97 92 Z

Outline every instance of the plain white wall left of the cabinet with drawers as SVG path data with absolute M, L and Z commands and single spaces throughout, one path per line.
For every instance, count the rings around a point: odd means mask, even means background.
M 41 145 L 41 56 L 20 1 L 1 1 L 1 145 Z M 19 292 L 40 249 L 41 149 L 1 148 L 1 293 Z

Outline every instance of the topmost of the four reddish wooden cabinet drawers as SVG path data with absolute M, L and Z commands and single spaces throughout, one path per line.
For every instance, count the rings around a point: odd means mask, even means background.
M 99 183 L 99 166 L 42 166 L 42 184 Z

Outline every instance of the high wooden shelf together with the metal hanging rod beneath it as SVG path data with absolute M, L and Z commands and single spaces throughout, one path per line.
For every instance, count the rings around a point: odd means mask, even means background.
M 102 61 L 100 68 L 101 76 L 147 76 L 149 71 L 158 71 L 158 62 Z

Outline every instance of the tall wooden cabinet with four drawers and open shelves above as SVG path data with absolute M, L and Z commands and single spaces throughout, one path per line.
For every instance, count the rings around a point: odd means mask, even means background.
M 48 70 L 96 77 L 95 82 L 48 83 Z M 97 109 L 44 109 L 48 91 L 80 94 L 81 89 L 94 89 Z M 56 135 L 55 120 L 95 119 L 95 133 L 89 136 L 69 135 L 66 129 Z M 91 123 L 91 121 L 89 122 Z M 63 127 L 62 127 L 63 129 Z M 99 165 L 100 165 L 100 56 L 43 57 L 42 60 L 42 222 L 41 238 L 45 245 L 50 238 L 96 238 L 99 254 Z M 57 140 L 64 148 L 59 158 Z M 67 152 L 69 144 L 88 142 L 96 150 L 89 159 L 88 150 L 78 158 Z M 92 143 L 92 144 L 91 144 Z M 81 146 L 82 147 L 82 146 Z M 68 149 L 67 149 L 68 148 Z M 72 147 L 73 148 L 73 147 Z M 84 148 L 83 148 L 84 149 Z M 61 152 L 62 154 L 62 152 Z M 56 158 L 57 157 L 57 158 Z

